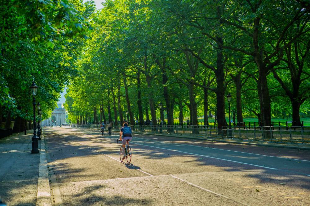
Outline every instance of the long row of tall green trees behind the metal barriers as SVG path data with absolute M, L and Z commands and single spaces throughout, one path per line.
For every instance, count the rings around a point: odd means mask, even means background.
M 309 18 L 301 0 L 107 0 L 91 16 L 69 118 L 117 122 L 128 111 L 131 123 L 156 125 L 163 102 L 168 125 L 187 111 L 192 125 L 198 115 L 208 122 L 212 111 L 225 127 L 230 92 L 237 122 L 255 114 L 271 126 L 272 116 L 291 113 L 300 125 L 300 109 L 309 111 Z

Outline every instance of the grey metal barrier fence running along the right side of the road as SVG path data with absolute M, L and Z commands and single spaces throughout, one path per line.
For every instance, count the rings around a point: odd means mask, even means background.
M 96 128 L 97 124 L 72 125 L 78 128 Z M 113 125 L 113 131 L 120 131 L 122 125 Z M 175 125 L 130 125 L 133 132 L 170 134 L 175 136 L 190 136 L 213 139 L 237 139 L 246 141 L 265 141 L 289 144 L 310 144 L 310 127 L 305 126 L 206 126 L 196 125 L 179 127 Z M 108 127 L 106 126 L 106 130 Z

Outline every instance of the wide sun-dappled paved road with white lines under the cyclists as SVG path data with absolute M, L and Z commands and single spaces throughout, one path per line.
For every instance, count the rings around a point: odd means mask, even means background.
M 46 128 L 54 205 L 309 205 L 310 152 Z

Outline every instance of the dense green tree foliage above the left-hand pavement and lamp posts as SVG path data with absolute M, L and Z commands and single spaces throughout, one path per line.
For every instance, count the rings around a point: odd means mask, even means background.
M 21 131 L 31 127 L 33 79 L 42 118 L 55 108 L 64 85 L 78 75 L 74 62 L 91 27 L 95 6 L 82 0 L 0 1 L 0 123 Z

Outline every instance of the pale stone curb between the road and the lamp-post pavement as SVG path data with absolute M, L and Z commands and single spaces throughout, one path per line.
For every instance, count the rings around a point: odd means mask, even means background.
M 45 154 L 44 134 L 41 136 L 41 151 L 38 177 L 37 206 L 51 206 L 51 191 L 48 180 L 47 161 Z

